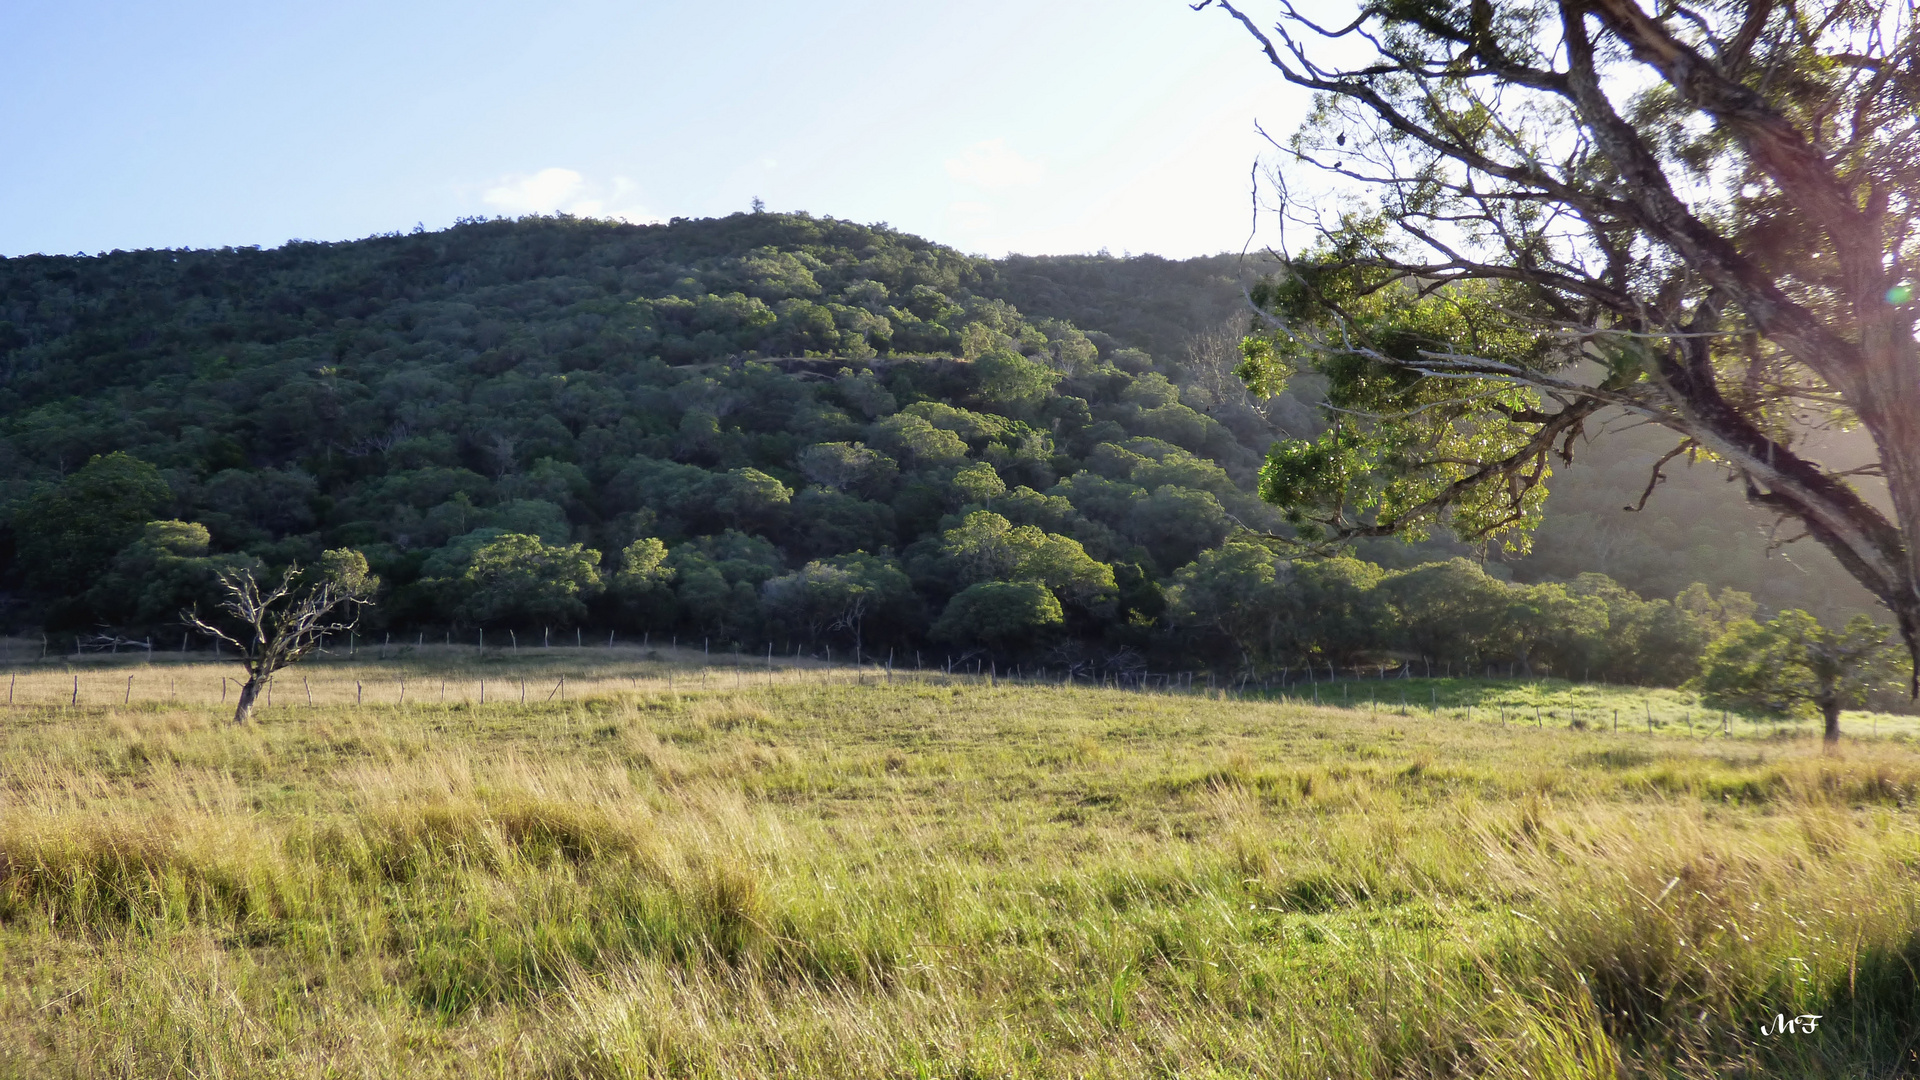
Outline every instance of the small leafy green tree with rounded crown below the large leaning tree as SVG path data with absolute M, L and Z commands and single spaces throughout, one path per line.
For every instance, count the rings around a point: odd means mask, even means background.
M 1880 682 L 1893 682 L 1889 630 L 1855 615 L 1830 630 L 1805 611 L 1768 623 L 1734 623 L 1707 651 L 1697 686 L 1709 705 L 1797 713 L 1812 705 L 1826 742 L 1839 742 L 1839 711 L 1860 707 Z

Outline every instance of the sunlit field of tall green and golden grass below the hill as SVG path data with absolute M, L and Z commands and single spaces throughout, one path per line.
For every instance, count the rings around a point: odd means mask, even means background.
M 1905 717 L 355 659 L 0 669 L 0 1074 L 1920 1074 Z

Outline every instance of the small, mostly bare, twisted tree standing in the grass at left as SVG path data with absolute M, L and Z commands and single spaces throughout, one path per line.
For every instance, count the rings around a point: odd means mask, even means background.
M 238 650 L 246 667 L 234 723 L 253 715 L 253 701 L 273 682 L 273 673 L 300 663 L 326 634 L 344 634 L 359 625 L 361 607 L 372 603 L 380 578 L 367 571 L 367 555 L 340 548 L 321 555 L 319 567 L 288 567 L 278 584 L 263 590 L 250 569 L 221 575 L 227 600 L 215 621 L 198 611 L 184 613 L 186 625 Z

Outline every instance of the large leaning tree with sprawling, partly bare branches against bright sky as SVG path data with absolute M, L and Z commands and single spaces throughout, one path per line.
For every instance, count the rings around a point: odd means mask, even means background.
M 1242 369 L 1327 377 L 1329 429 L 1263 475 L 1304 538 L 1524 548 L 1549 459 L 1624 413 L 1824 544 L 1920 650 L 1912 2 L 1208 6 L 1315 94 L 1275 171 L 1313 242 L 1256 296 Z M 1309 208 L 1313 169 L 1373 198 Z M 1878 461 L 1822 463 L 1818 427 Z

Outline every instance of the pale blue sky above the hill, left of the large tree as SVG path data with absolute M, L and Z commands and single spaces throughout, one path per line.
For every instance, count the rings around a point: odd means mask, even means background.
M 0 256 L 806 209 L 1240 250 L 1308 108 L 1183 0 L 0 0 Z

